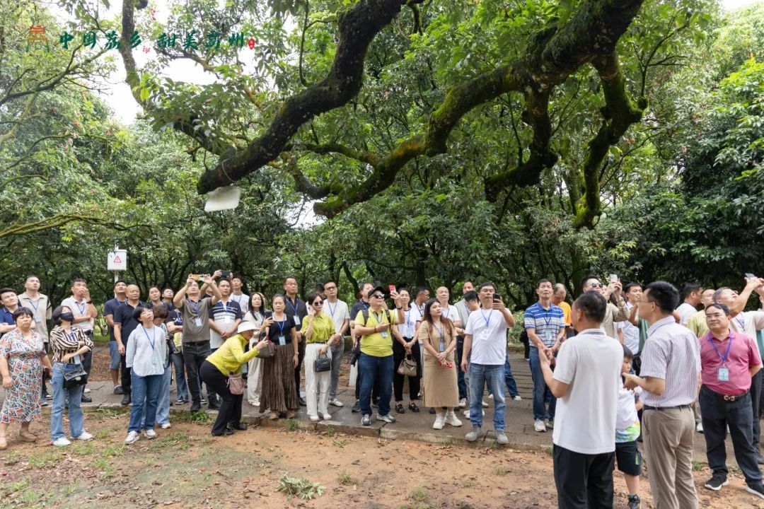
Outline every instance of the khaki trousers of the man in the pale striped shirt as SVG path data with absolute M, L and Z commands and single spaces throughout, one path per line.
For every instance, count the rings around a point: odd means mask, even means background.
M 656 509 L 698 509 L 698 494 L 692 478 L 695 433 L 692 410 L 688 407 L 646 408 L 642 425 L 650 490 Z

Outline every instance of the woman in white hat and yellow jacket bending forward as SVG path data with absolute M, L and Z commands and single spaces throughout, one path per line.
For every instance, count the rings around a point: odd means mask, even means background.
M 251 322 L 240 324 L 236 334 L 225 340 L 223 346 L 202 362 L 202 369 L 199 369 L 202 381 L 223 399 L 218 418 L 215 419 L 215 424 L 212 424 L 213 437 L 232 435 L 234 430 L 247 429 L 247 425 L 241 422 L 241 401 L 244 395 L 231 394 L 228 390 L 228 375 L 240 374 L 241 366 L 257 356 L 257 353 L 266 346 L 267 339 L 257 343 L 248 352 L 244 352 L 244 346 L 249 344 L 251 337 L 255 333 L 257 337 L 260 337 L 261 332 L 263 330 L 258 329 Z

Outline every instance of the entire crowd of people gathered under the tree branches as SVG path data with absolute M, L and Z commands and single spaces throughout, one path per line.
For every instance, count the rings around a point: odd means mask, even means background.
M 419 412 L 421 401 L 435 415 L 435 430 L 461 427 L 457 410 L 465 408 L 471 424 L 465 439 L 478 440 L 487 388 L 497 443 L 508 442 L 505 394 L 521 399 L 507 356 L 516 317 L 492 282 L 464 282 L 454 304 L 445 287 L 429 298 L 426 288 L 366 282 L 349 308 L 335 281 L 316 285 L 305 300 L 292 277 L 270 301 L 260 292 L 244 294 L 243 286 L 240 277 L 218 270 L 189 275 L 178 292 L 149 288 L 142 301 L 138 285 L 115 282 L 103 314 L 113 391 L 132 405 L 125 443 L 141 440 L 141 433 L 151 440 L 155 427 L 171 426 L 173 372 L 176 404 L 218 410 L 215 437 L 246 429 L 244 398 L 270 419 L 292 418 L 304 406 L 309 420 L 329 420 L 330 407 L 343 406 L 338 379 L 348 334 L 357 368 L 352 411 L 361 425 L 371 425 L 372 417 L 395 423 L 393 411 Z M 746 277 L 740 293 L 688 283 L 680 295 L 667 282 L 622 285 L 616 275 L 607 284 L 589 275 L 580 288 L 571 305 L 564 285 L 542 279 L 538 301 L 523 314 L 533 429 L 553 430 L 559 506 L 612 507 L 617 464 L 630 509 L 640 507 L 642 449 L 656 507 L 698 507 L 697 433 L 704 433 L 712 470 L 705 488 L 729 484 L 724 441 L 730 433 L 746 490 L 764 498 L 764 311 L 744 311 L 754 292 L 764 304 L 764 279 Z M 50 399 L 53 445 L 93 438 L 80 404 L 89 401 L 98 310 L 85 280 L 75 279 L 71 291 L 53 308 L 37 276 L 26 279 L 20 295 L 0 289 L 0 449 L 8 446 L 11 422 L 20 423 L 21 440 L 37 440 L 30 423 Z

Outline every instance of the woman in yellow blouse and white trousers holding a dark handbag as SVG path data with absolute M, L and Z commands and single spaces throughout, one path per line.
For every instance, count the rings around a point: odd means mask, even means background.
M 336 333 L 334 321 L 329 314 L 324 314 L 321 295 L 312 294 L 308 297 L 308 316 L 303 321 L 300 332 L 305 337 L 305 398 L 308 404 L 308 417 L 312 421 L 319 420 L 319 412 L 324 419 L 329 415 L 329 382 L 332 381 L 332 371 L 316 373 L 313 361 L 319 356 L 332 359 L 329 346 L 342 341 Z M 320 395 L 316 391 L 320 390 Z

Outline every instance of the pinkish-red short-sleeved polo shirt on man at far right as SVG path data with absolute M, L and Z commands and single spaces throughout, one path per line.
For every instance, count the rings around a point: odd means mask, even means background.
M 718 340 L 711 332 L 701 338 L 701 379 L 712 391 L 728 396 L 739 396 L 751 388 L 749 369 L 761 366 L 762 358 L 753 339 L 733 330 L 724 340 Z M 713 342 L 713 346 L 711 343 Z M 716 347 L 714 350 L 714 346 Z M 729 347 L 729 353 L 727 353 Z M 727 356 L 727 362 L 722 358 Z M 727 368 L 726 382 L 719 379 L 719 369 Z

